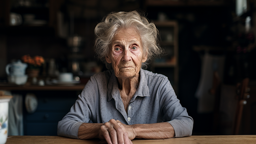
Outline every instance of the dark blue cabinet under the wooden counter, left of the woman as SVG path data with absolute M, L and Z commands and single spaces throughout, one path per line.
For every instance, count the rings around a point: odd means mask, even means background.
M 38 107 L 30 114 L 24 106 L 24 135 L 57 135 L 58 122 L 69 112 L 81 91 L 30 91 L 30 93 L 36 95 Z

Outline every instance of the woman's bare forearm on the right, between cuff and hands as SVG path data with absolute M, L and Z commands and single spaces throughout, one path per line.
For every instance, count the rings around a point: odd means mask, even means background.
M 170 123 L 134 124 L 136 138 L 167 139 L 175 137 L 175 132 Z

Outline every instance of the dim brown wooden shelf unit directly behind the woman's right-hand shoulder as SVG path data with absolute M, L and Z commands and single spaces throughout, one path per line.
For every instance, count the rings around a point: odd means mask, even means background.
M 159 30 L 160 46 L 164 54 L 151 64 L 151 70 L 164 74 L 170 80 L 176 94 L 178 94 L 179 62 L 178 62 L 178 22 L 177 21 L 154 21 Z

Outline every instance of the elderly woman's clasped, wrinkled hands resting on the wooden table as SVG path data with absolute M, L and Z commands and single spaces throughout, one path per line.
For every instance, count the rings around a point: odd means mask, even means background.
M 99 143 L 108 144 L 132 144 L 135 138 L 134 127 L 126 125 L 119 120 L 111 119 L 100 127 Z

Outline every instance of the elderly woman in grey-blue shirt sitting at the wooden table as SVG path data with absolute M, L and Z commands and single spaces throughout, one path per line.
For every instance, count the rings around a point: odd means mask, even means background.
M 190 136 L 193 119 L 168 78 L 141 69 L 162 53 L 156 26 L 136 11 L 112 12 L 95 35 L 97 55 L 109 70 L 91 77 L 59 122 L 58 135 L 109 144 Z

